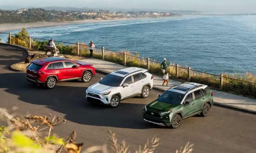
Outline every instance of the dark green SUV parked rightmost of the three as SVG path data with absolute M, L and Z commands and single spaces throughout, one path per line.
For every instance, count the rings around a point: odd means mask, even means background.
M 185 82 L 166 90 L 143 108 L 143 119 L 161 126 L 178 128 L 181 120 L 201 113 L 209 115 L 214 92 L 202 85 Z

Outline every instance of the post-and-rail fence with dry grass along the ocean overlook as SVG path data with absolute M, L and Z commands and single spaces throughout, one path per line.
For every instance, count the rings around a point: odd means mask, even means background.
M 0 34 L 7 34 L 1 33 Z M 8 42 L 12 42 L 12 35 L 9 33 L 9 40 Z M 34 38 L 28 37 L 29 47 L 31 48 L 31 38 L 34 40 L 44 40 L 42 38 Z M 77 43 L 69 43 L 69 42 L 62 42 L 56 41 L 57 43 L 69 44 L 74 47 L 75 51 L 72 51 L 72 55 L 88 55 L 84 52 L 88 52 L 88 45 L 86 44 L 79 44 Z M 84 52 L 83 52 L 84 51 Z M 160 62 L 150 60 L 148 57 L 140 58 L 136 55 L 131 55 L 127 51 L 111 51 L 107 50 L 104 47 L 94 47 L 93 51 L 94 58 L 103 59 L 110 62 L 114 62 L 117 64 L 122 64 L 128 67 L 139 67 L 139 68 L 146 68 L 149 72 L 155 75 L 163 75 L 160 72 Z M 208 85 L 214 89 L 223 90 L 226 92 L 234 93 L 234 94 L 241 94 L 256 98 L 256 83 L 250 81 L 243 81 L 235 78 L 231 78 L 229 76 L 223 76 L 221 73 L 220 75 L 200 72 L 197 70 L 192 70 L 190 67 L 181 67 L 180 65 L 171 64 L 168 67 L 168 73 L 171 75 L 172 79 L 179 79 L 180 81 L 191 81 L 202 83 Z

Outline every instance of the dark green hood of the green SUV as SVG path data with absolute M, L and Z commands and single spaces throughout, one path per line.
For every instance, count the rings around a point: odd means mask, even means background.
M 179 106 L 179 105 L 172 105 L 172 104 L 168 104 L 165 102 L 159 102 L 158 100 L 155 100 L 155 101 L 147 104 L 147 109 L 165 112 L 165 111 L 172 110 L 173 108 L 175 108 L 177 106 Z

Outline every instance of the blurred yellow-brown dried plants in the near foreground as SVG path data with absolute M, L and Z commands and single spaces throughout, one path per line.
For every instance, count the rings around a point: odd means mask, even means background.
M 59 123 L 65 123 L 59 117 L 49 114 L 48 116 L 39 116 L 26 114 L 25 116 L 10 115 L 7 110 L 0 108 L 0 119 L 7 119 L 9 126 L 0 127 L 0 153 L 80 153 L 83 143 L 76 143 L 75 132 L 71 132 L 66 140 L 58 138 L 56 134 L 51 135 L 54 126 Z M 48 132 L 42 132 L 48 129 Z M 45 136 L 46 135 L 46 136 Z M 109 146 L 92 146 L 83 151 L 83 153 L 93 153 L 101 151 L 102 153 L 131 153 L 125 140 L 121 143 L 115 136 L 115 132 L 108 133 Z M 154 153 L 159 146 L 159 138 L 154 136 L 151 141 L 147 140 L 144 146 L 139 146 L 135 153 Z M 184 149 L 177 150 L 176 153 L 191 153 L 193 144 L 189 142 Z

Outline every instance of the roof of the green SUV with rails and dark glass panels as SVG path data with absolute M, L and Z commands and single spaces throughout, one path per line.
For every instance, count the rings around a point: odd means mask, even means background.
M 173 85 L 168 90 L 185 94 L 193 89 L 201 89 L 201 88 L 206 88 L 206 87 L 207 87 L 207 85 L 203 85 L 203 84 L 199 84 L 199 83 L 185 82 L 185 83 L 181 83 L 179 85 Z

